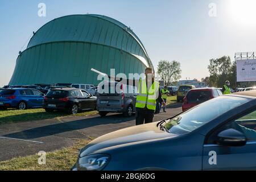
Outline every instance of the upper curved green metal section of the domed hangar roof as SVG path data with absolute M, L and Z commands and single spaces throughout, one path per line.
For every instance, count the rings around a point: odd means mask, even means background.
M 121 49 L 153 68 L 138 36 L 125 24 L 108 16 L 86 14 L 53 19 L 39 28 L 27 48 L 52 42 L 85 42 Z

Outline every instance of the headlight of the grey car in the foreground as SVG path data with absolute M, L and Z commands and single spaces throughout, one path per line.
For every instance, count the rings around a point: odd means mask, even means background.
M 94 154 L 79 158 L 77 168 L 85 171 L 100 171 L 109 163 L 110 155 Z

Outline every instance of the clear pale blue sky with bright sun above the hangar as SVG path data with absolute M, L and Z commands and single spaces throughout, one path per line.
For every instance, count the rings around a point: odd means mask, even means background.
M 41 2 L 46 17 L 38 16 Z M 201 79 L 209 76 L 209 59 L 228 55 L 234 60 L 235 52 L 256 51 L 255 8 L 255 0 L 1 0 L 0 86 L 9 83 L 32 31 L 60 16 L 86 13 L 130 26 L 155 68 L 159 60 L 177 60 L 183 79 Z

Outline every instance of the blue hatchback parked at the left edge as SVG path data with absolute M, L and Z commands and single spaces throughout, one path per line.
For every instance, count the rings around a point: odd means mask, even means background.
M 36 89 L 3 89 L 0 90 L 0 109 L 39 108 L 43 105 L 43 98 L 44 94 Z

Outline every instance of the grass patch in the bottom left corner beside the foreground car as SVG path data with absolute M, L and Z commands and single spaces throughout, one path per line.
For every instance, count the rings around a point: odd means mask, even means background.
M 47 152 L 46 164 L 39 165 L 39 155 L 30 155 L 0 162 L 0 171 L 68 171 L 76 163 L 79 151 L 90 140 L 79 140 L 71 147 Z

